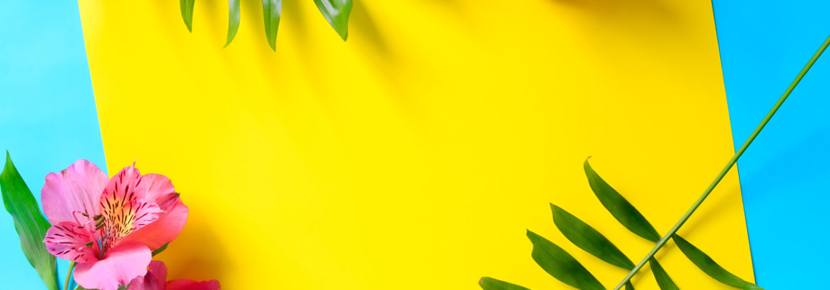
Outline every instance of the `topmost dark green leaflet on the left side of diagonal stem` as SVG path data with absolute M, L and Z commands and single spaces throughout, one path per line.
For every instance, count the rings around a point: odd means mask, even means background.
M 616 218 L 620 224 L 623 224 L 632 233 L 637 234 L 652 242 L 660 240 L 660 234 L 654 230 L 654 226 L 646 220 L 640 211 L 634 208 L 626 199 L 621 196 L 613 187 L 603 181 L 597 172 L 593 171 L 588 160 L 585 160 L 585 175 L 588 176 L 588 184 L 591 185 L 593 194 L 597 196 L 599 202 L 605 206 L 605 209 L 611 212 L 611 215 Z

